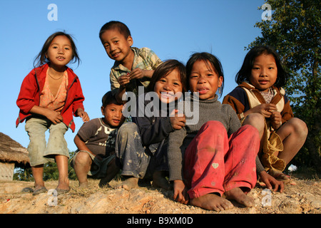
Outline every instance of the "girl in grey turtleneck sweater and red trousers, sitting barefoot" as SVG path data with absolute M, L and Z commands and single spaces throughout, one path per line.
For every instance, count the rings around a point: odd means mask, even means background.
M 173 181 L 174 199 L 222 211 L 235 199 L 247 207 L 254 200 L 246 195 L 256 182 L 255 157 L 258 153 L 258 130 L 240 127 L 230 105 L 218 101 L 223 90 L 223 69 L 210 53 L 195 53 L 186 63 L 190 92 L 199 103 L 199 120 L 175 130 L 168 138 L 169 180 Z M 220 89 L 219 89 L 220 88 Z M 187 194 L 186 194 L 187 193 Z M 225 196 L 225 197 L 223 197 Z

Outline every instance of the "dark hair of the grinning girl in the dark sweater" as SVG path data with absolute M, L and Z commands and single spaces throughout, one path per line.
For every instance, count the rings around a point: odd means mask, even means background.
M 160 66 L 156 68 L 156 70 L 153 73 L 153 76 L 151 77 L 151 82 L 148 85 L 148 91 L 153 91 L 155 84 L 157 81 L 159 81 L 161 78 L 165 78 L 168 76 L 168 73 L 174 71 L 178 71 L 178 74 L 180 76 L 180 82 L 182 83 L 183 93 L 187 91 L 186 86 L 186 70 L 183 63 L 180 63 L 180 61 L 177 61 L 175 59 L 170 59 L 167 61 L 164 61 L 161 63 Z

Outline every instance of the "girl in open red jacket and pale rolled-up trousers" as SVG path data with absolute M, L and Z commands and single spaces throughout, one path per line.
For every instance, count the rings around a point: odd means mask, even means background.
M 34 195 L 46 192 L 44 164 L 57 163 L 58 194 L 68 192 L 68 147 L 64 134 L 75 130 L 73 115 L 89 120 L 83 108 L 83 92 L 75 73 L 66 65 L 80 61 L 70 35 L 56 32 L 47 38 L 36 57 L 35 68 L 24 78 L 16 104 L 20 108 L 16 126 L 26 120 L 29 159 L 34 176 Z M 49 129 L 46 143 L 45 132 Z

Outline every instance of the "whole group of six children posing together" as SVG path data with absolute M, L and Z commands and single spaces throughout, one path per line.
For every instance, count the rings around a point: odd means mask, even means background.
M 220 211 L 233 207 L 229 199 L 247 207 L 254 200 L 247 193 L 260 178 L 269 189 L 284 188 L 289 177 L 282 171 L 300 150 L 307 127 L 293 117 L 282 86 L 287 73 L 269 46 L 252 48 L 235 81 L 238 87 L 223 93 L 223 68 L 210 53 L 194 53 L 184 66 L 176 60 L 161 61 L 149 48 L 134 48 L 128 27 L 110 21 L 99 33 L 111 68 L 111 91 L 103 95 L 103 118 L 89 120 L 84 96 L 75 73 L 68 68 L 79 61 L 73 39 L 66 33 L 49 36 L 24 78 L 17 105 L 16 125 L 26 120 L 34 195 L 46 192 L 44 164 L 56 161 L 58 194 L 68 192 L 68 147 L 64 133 L 75 130 L 73 115 L 83 119 L 71 159 L 79 186 L 87 177 L 107 186 L 121 171 L 116 188 L 131 190 L 139 180 L 154 187 L 173 189 L 174 200 Z M 138 94 L 139 88 L 143 93 Z M 125 122 L 126 94 L 143 96 L 143 108 L 153 115 L 133 115 Z M 156 99 L 147 98 L 153 92 Z M 184 94 L 190 94 L 185 100 Z M 159 98 L 159 99 L 158 99 Z M 198 108 L 198 121 L 178 111 L 178 103 Z M 156 103 L 158 105 L 151 105 Z M 195 103 L 198 104 L 194 107 Z M 165 115 L 163 109 L 166 107 Z M 133 108 L 133 107 L 131 107 Z M 141 106 L 131 113 L 141 114 Z M 150 114 L 150 113 L 149 113 Z M 46 143 L 45 132 L 49 129 Z

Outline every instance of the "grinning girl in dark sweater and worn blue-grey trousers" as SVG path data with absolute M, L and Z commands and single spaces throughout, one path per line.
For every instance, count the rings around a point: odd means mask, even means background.
M 176 60 L 165 61 L 156 68 L 148 86 L 150 92 L 142 94 L 145 98 L 143 110 L 139 110 L 141 105 L 136 105 L 133 123 L 125 123 L 119 129 L 116 156 L 126 180 L 116 188 L 131 190 L 138 187 L 139 179 L 152 178 L 154 187 L 169 189 L 165 179 L 168 172 L 166 149 L 169 133 L 185 125 L 185 117 L 175 114 L 175 103 L 186 91 L 185 77 L 185 66 Z M 154 100 L 149 99 L 149 95 Z M 151 104 L 158 105 L 153 105 L 151 113 L 146 113 L 146 107 Z M 159 108 L 164 106 L 165 113 Z M 142 111 L 144 115 L 139 115 Z

